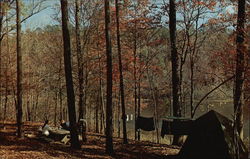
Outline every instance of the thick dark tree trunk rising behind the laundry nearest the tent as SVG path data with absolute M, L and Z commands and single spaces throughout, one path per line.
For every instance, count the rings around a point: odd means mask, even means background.
M 176 4 L 175 0 L 169 0 L 170 11 L 169 11 L 169 31 L 170 31 L 170 43 L 171 43 L 171 62 L 172 62 L 172 97 L 173 97 L 173 115 L 175 117 L 181 116 L 181 107 L 179 101 L 179 61 L 178 52 L 176 48 Z M 174 120 L 177 122 L 177 120 Z M 173 145 L 180 145 L 180 136 L 175 135 L 173 139 Z

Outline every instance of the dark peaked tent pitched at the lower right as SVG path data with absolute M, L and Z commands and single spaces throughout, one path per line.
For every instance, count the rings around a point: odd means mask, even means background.
M 193 122 L 190 134 L 182 146 L 179 159 L 234 159 L 234 144 L 238 139 L 240 158 L 248 153 L 242 140 L 234 135 L 233 122 L 215 111 L 210 111 Z

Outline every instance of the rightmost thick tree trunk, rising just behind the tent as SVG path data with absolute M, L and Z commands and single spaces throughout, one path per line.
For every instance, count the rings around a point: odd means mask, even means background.
M 236 70 L 234 83 L 234 111 L 236 117 L 236 127 L 243 138 L 243 105 L 242 105 L 242 87 L 244 83 L 244 54 L 245 54 L 245 0 L 238 0 L 238 17 L 237 17 L 237 37 L 236 37 Z

